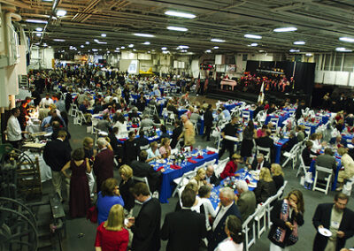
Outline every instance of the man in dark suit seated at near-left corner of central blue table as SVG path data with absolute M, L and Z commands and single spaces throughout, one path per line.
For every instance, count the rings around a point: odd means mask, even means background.
M 142 150 L 139 155 L 139 160 L 132 161 L 130 165 L 133 169 L 134 176 L 148 178 L 150 192 L 153 193 L 160 187 L 161 171 L 155 171 L 150 164 L 146 163 L 148 153 Z

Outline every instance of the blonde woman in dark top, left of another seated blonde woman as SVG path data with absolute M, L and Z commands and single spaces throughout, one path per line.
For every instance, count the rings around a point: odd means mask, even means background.
M 276 194 L 275 182 L 272 179 L 271 171 L 269 168 L 263 167 L 259 172 L 259 180 L 257 187 L 254 190 L 256 194 L 256 202 L 266 202 L 266 200 Z

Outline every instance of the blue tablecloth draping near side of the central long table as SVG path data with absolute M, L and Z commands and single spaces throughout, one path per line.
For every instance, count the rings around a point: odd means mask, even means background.
M 193 151 L 196 153 L 196 151 Z M 181 169 L 174 170 L 170 168 L 169 164 L 158 164 L 154 163 L 154 169 L 158 170 L 161 166 L 164 166 L 165 171 L 162 173 L 162 184 L 161 184 L 161 192 L 159 194 L 159 200 L 161 203 L 168 203 L 167 199 L 171 197 L 173 193 L 173 189 L 175 184 L 173 183 L 173 179 L 180 178 L 185 172 L 194 170 L 197 166 L 204 164 L 207 161 L 211 161 L 213 159 L 219 158 L 217 153 L 212 155 L 207 155 L 206 150 L 203 151 L 204 159 L 196 159 L 193 157 L 192 159 L 196 161 L 196 164 L 192 164 L 189 162 L 184 162 L 181 164 Z

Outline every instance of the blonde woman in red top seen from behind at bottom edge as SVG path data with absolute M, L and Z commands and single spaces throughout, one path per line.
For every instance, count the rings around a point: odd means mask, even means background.
M 126 251 L 129 233 L 124 228 L 124 211 L 119 204 L 112 206 L 107 221 L 97 227 L 96 251 Z

